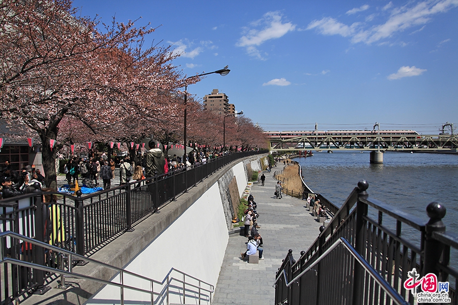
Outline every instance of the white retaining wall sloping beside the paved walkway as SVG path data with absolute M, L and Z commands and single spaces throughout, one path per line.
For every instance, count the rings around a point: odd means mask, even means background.
M 247 185 L 243 162 L 237 163 L 232 170 L 237 179 L 239 195 L 242 196 Z M 170 268 L 174 267 L 216 286 L 228 238 L 223 203 L 218 182 L 215 182 L 124 269 L 162 281 Z M 112 281 L 119 283 L 119 276 Z M 151 289 L 145 281 L 132 282 L 125 278 L 124 283 Z M 125 291 L 124 294 L 126 303 L 144 303 L 150 298 L 148 294 L 133 291 Z M 120 304 L 119 300 L 120 288 L 105 286 L 87 304 Z M 173 295 L 170 303 L 181 303 L 181 296 Z M 186 303 L 194 304 L 197 300 L 187 298 Z

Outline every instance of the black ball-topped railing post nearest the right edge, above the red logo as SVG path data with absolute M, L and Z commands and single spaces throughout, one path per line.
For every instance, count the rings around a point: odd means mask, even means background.
M 430 221 L 425 225 L 423 276 L 428 273 L 434 273 L 440 278 L 440 271 L 436 268 L 436 265 L 441 259 L 444 245 L 442 242 L 435 240 L 432 234 L 433 232 L 445 232 L 445 225 L 442 222 L 442 218 L 444 218 L 446 211 L 445 206 L 438 202 L 431 202 L 426 207 L 426 213 Z

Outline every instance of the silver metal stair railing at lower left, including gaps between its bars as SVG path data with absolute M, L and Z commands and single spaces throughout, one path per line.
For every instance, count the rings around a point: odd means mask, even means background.
M 149 303 L 150 304 L 169 304 L 170 299 L 173 296 L 178 296 L 180 302 L 185 303 L 187 298 L 194 299 L 193 301 L 198 301 L 198 304 L 201 301 L 211 304 L 212 302 L 212 293 L 214 292 L 214 286 L 201 281 L 197 278 L 194 278 L 187 273 L 184 273 L 180 270 L 175 268 L 171 268 L 167 275 L 164 277 L 162 281 L 156 281 L 150 279 L 148 277 L 137 275 L 134 272 L 130 272 L 128 270 L 124 270 L 115 266 L 108 265 L 106 263 L 84 257 L 78 254 L 75 254 L 71 251 L 63 250 L 58 247 L 54 247 L 48 245 L 47 243 L 37 241 L 34 238 L 29 238 L 17 233 L 13 233 L 11 231 L 2 232 L 0 233 L 0 242 L 2 245 L 5 243 L 10 243 L 11 245 L 20 245 L 21 243 L 28 243 L 35 249 L 35 253 L 37 255 L 45 256 L 46 252 L 53 251 L 61 258 L 62 264 L 60 264 L 59 268 L 53 268 L 48 265 L 38 264 L 36 262 L 15 259 L 8 257 L 4 251 L 0 251 L 0 263 L 4 266 L 4 269 L 14 269 L 14 270 L 21 270 L 22 268 L 25 269 L 34 269 L 35 272 L 50 272 L 50 273 L 57 273 L 60 275 L 60 285 L 58 288 L 66 289 L 67 285 L 65 284 L 66 278 L 76 278 L 81 280 L 89 280 L 93 282 L 97 282 L 103 285 L 115 286 L 120 288 L 120 302 L 121 305 L 124 304 L 125 301 L 125 292 L 126 290 L 132 290 L 144 294 L 149 295 Z M 0 249 L 4 249 L 3 247 Z M 108 268 L 113 272 L 117 273 L 118 275 L 114 277 L 111 281 L 106 281 L 103 279 L 98 279 L 94 277 L 85 276 L 81 273 L 77 273 L 73 269 L 73 264 L 69 262 L 73 262 L 74 260 L 83 260 L 86 263 L 99 265 L 104 268 Z M 9 266 L 9 267 L 8 267 Z M 14 266 L 14 268 L 13 268 Z M 177 276 L 174 276 L 177 273 Z M 128 277 L 127 277 L 128 276 Z M 132 279 L 133 278 L 133 279 Z M 118 282 L 116 282 L 118 281 Z M 139 288 L 142 285 L 138 282 L 146 281 L 148 282 L 148 287 L 151 287 L 150 290 Z M 192 284 L 190 282 L 194 282 L 196 284 Z M 129 283 L 129 284 L 127 284 Z M 176 284 L 177 283 L 177 284 Z M 8 284 L 8 283 L 6 283 Z M 133 286 L 133 284 L 136 284 Z M 39 283 L 36 283 L 39 286 Z M 8 285 L 7 285 L 8 286 Z M 171 296 L 172 295 L 172 296 Z M 141 300 L 142 298 L 140 298 Z M 16 297 L 15 300 L 18 301 Z M 10 303 L 13 299 L 11 297 L 7 297 L 3 299 L 2 303 Z M 129 302 L 130 303 L 130 302 Z

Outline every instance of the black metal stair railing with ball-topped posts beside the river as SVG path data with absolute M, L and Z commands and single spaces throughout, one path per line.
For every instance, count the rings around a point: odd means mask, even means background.
M 283 272 L 284 269 L 287 274 L 297 275 L 318 260 L 336 240 L 343 237 L 410 304 L 414 303 L 415 297 L 403 284 L 409 278 L 408 273 L 415 268 L 422 277 L 434 273 L 438 281 L 449 282 L 448 296 L 451 304 L 456 305 L 457 262 L 450 259 L 450 253 L 451 250 L 458 250 L 458 235 L 445 231 L 445 225 L 441 220 L 445 216 L 445 207 L 437 202 L 430 203 L 426 208 L 430 221 L 424 224 L 421 219 L 405 211 L 369 198 L 367 188 L 367 182 L 360 181 L 327 227 L 321 228 L 322 232 L 312 246 L 301 252 L 297 261 L 293 260 L 290 252 L 279 272 Z M 351 266 L 345 254 L 339 254 L 335 259 Z M 354 270 L 346 281 L 353 284 L 346 303 L 362 304 L 365 289 L 372 286 L 368 283 L 363 269 L 354 266 L 351 269 Z M 323 281 L 320 285 L 326 287 L 336 279 L 330 277 Z M 340 284 L 346 285 L 346 282 Z M 297 303 L 300 296 L 317 299 L 320 286 L 302 287 L 306 291 L 301 290 L 298 295 L 288 296 L 289 304 Z M 385 302 L 381 299 L 380 293 L 373 298 L 377 299 L 376 303 Z M 283 301 L 283 297 L 278 297 L 275 303 L 280 304 Z

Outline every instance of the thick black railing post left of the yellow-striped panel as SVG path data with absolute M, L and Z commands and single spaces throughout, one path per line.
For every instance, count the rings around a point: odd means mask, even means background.
M 47 208 L 46 204 L 43 205 L 42 202 L 42 195 L 36 194 L 34 196 L 34 201 L 35 201 L 35 239 L 38 241 L 44 242 L 44 226 L 45 226 L 45 220 L 44 220 L 44 215 L 43 215 L 43 208 Z M 45 249 L 40 246 L 34 246 L 35 249 L 35 263 L 37 265 L 45 266 Z M 38 270 L 34 268 L 34 279 L 35 282 L 37 283 L 37 290 L 34 292 L 34 294 L 44 294 L 46 291 L 51 289 L 49 286 L 44 286 L 44 271 L 43 270 Z

